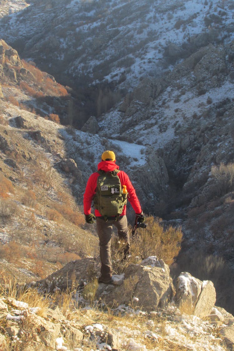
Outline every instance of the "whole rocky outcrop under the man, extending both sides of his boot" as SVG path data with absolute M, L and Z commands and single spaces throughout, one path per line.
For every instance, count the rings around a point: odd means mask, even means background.
M 30 285 L 38 287 L 44 293 L 74 289 L 75 285 L 79 290 L 79 286 L 87 280 L 91 267 L 94 275 L 99 274 L 100 264 L 93 258 L 72 261 L 46 279 Z M 148 312 L 166 307 L 172 296 L 173 282 L 169 275 L 169 267 L 156 257 L 142 261 L 141 264 L 129 265 L 124 271 L 122 280 L 114 282 L 111 286 L 100 284 L 96 293 L 96 298 L 107 305 L 116 302 L 118 305 L 128 305 L 135 297 L 135 305 Z

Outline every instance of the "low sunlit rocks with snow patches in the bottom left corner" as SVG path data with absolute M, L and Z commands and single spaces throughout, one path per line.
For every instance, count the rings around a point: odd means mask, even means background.
M 41 307 L 29 307 L 27 303 L 15 300 L 14 298 L 0 299 L 0 320 L 7 323 L 5 328 L 5 336 L 0 334 L 0 345 L 6 345 L 15 338 L 20 338 L 22 334 L 29 333 L 31 335 L 30 342 L 24 340 L 24 350 L 32 350 L 32 344 L 41 346 L 41 348 L 48 346 L 55 350 L 58 346 L 58 337 L 61 336 L 61 329 L 63 336 L 69 336 L 75 342 L 81 343 L 83 333 L 75 327 L 74 324 L 66 321 L 65 316 L 59 311 L 58 307 L 55 310 L 47 309 L 44 312 L 44 317 L 39 314 Z M 82 329 L 82 326 L 80 326 Z M 10 338 L 10 339 L 9 339 Z

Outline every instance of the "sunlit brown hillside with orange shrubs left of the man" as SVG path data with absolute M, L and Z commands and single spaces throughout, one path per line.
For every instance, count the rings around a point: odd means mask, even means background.
M 68 93 L 0 44 L 1 273 L 30 280 L 92 254 L 96 238 L 87 231 L 71 187 L 74 179 L 80 179 L 79 190 L 84 183 L 74 161 L 67 160 L 69 128 L 53 113 L 56 100 L 63 115 Z

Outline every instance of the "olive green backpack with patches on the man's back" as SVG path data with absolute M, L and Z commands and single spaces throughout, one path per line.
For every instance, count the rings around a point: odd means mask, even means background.
M 94 208 L 105 219 L 107 217 L 119 217 L 127 203 L 127 193 L 123 193 L 120 179 L 117 176 L 118 172 L 118 170 L 112 172 L 98 171 L 100 176 L 97 180 L 93 202 Z

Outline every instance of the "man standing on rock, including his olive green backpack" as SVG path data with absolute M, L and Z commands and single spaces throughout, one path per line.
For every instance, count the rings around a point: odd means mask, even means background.
M 111 235 L 113 225 L 117 228 L 120 239 L 125 240 L 124 258 L 129 254 L 127 198 L 138 216 L 138 222 L 143 223 L 145 216 L 128 175 L 119 171 L 119 166 L 115 164 L 114 152 L 104 151 L 101 162 L 98 164 L 98 171 L 91 174 L 88 179 L 83 198 L 86 222 L 92 224 L 96 220 L 97 225 L 101 259 L 99 283 L 112 283 Z M 92 200 L 95 215 L 91 213 Z

